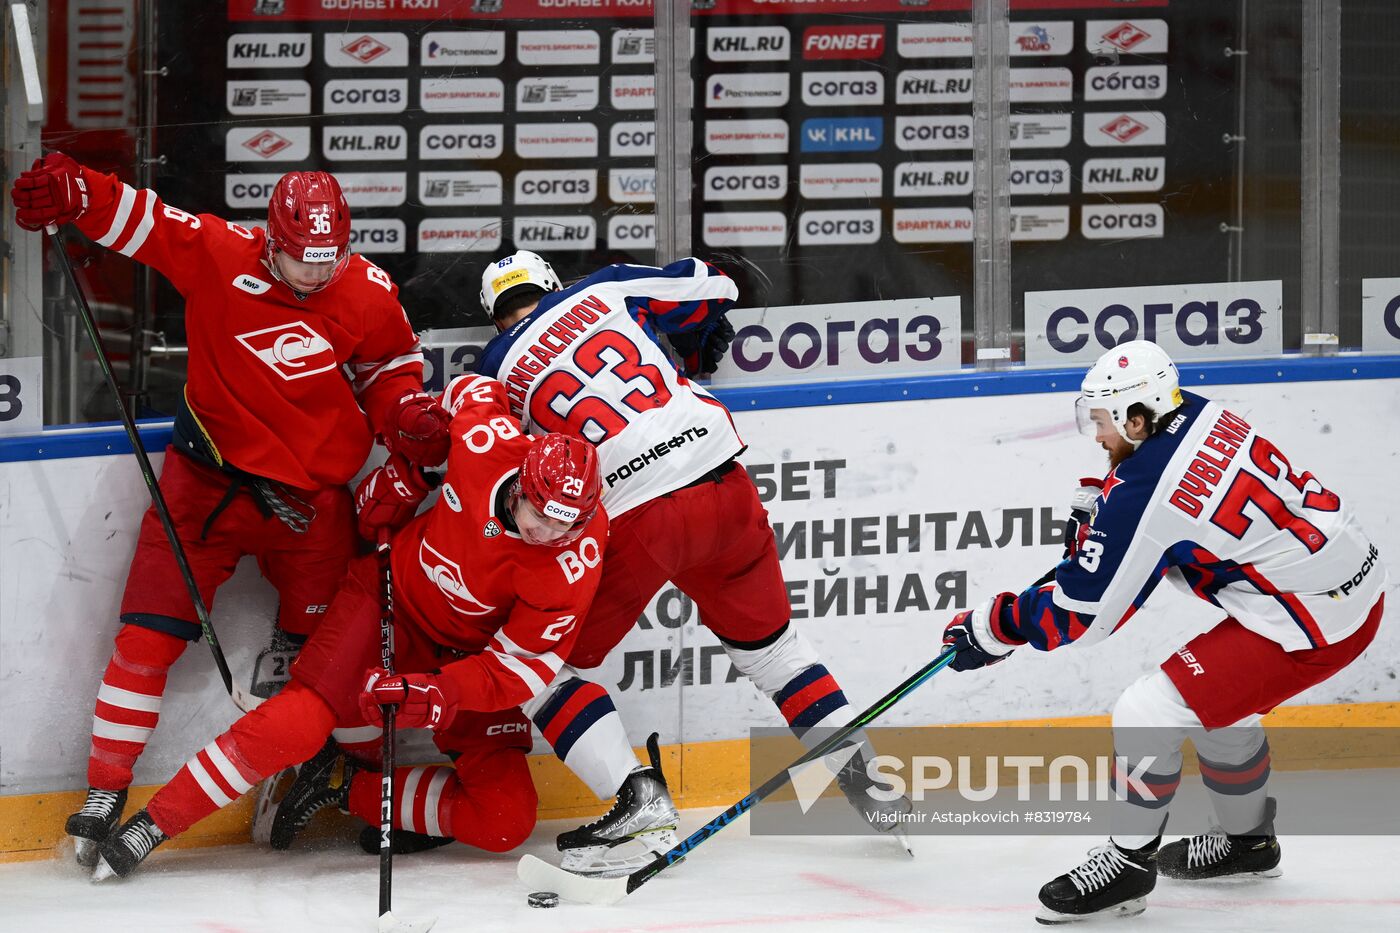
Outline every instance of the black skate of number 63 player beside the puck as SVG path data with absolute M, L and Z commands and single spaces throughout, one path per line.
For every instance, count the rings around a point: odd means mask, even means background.
M 559 836 L 564 853 L 560 867 L 577 874 L 615 878 L 630 874 L 673 848 L 680 814 L 671 801 L 666 776 L 661 772 L 657 733 L 647 740 L 651 765 L 638 768 L 617 790 L 612 810 Z M 638 845 L 627 845 L 627 843 Z

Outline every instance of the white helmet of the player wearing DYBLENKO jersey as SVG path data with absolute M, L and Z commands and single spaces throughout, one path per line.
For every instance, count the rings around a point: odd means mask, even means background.
M 1133 405 L 1142 405 L 1154 420 L 1182 405 L 1176 364 L 1166 350 L 1151 340 L 1120 343 L 1089 368 L 1074 403 L 1079 433 L 1093 437 L 1096 426 L 1089 412 L 1103 409 L 1119 436 L 1135 448 L 1142 441 L 1133 440 L 1123 430 Z

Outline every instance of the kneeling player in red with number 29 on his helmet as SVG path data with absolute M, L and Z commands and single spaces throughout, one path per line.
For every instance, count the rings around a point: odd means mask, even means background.
M 598 503 L 598 457 L 561 434 L 532 438 L 510 417 L 500 382 L 459 377 L 444 392 L 452 447 L 441 497 L 399 458 L 356 493 L 360 530 L 391 538 L 399 674 L 379 661 L 379 570 L 351 563 L 325 622 L 291 668 L 291 682 L 204 747 L 102 845 L 98 877 L 126 876 L 162 841 L 179 835 L 255 783 L 295 762 L 301 769 L 273 821 L 286 848 L 314 813 L 336 806 L 375 827 L 379 775 L 347 756 L 335 766 L 326 738 L 378 744 L 379 706 L 402 727 L 427 727 L 452 765 L 395 772 L 399 846 L 456 839 L 490 852 L 518 846 L 535 827 L 536 796 L 525 755 L 529 720 L 519 706 L 539 695 L 578 635 L 601 576 L 608 517 Z M 407 524 L 403 524 L 407 523 Z M 346 731 L 342 731 L 346 730 Z M 377 835 L 377 834 L 375 834 Z

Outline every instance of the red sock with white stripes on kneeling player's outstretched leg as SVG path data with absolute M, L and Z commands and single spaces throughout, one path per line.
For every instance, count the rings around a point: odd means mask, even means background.
M 330 706 L 293 681 L 185 762 L 146 810 L 161 832 L 179 835 L 263 778 L 315 755 L 335 724 Z

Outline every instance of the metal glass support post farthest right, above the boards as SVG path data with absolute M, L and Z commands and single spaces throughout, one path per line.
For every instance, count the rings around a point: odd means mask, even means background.
M 1302 350 L 1337 352 L 1341 248 L 1341 4 L 1303 0 Z

